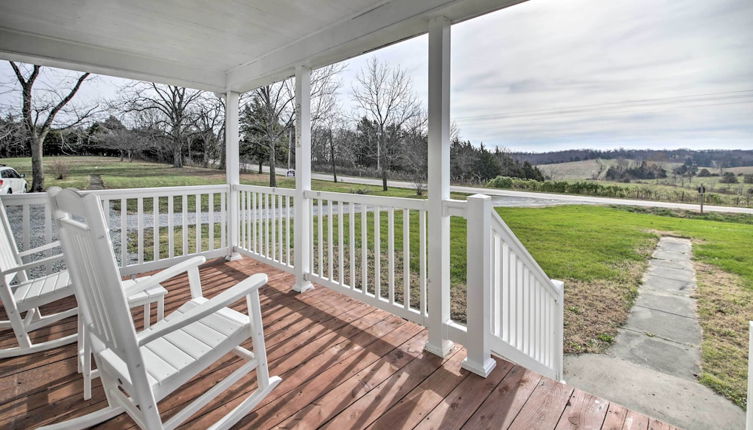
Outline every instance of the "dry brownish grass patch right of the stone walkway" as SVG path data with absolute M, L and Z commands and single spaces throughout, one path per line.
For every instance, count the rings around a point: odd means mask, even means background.
M 694 265 L 698 316 L 703 329 L 699 380 L 744 408 L 753 291 L 745 288 L 737 275 L 711 264 Z

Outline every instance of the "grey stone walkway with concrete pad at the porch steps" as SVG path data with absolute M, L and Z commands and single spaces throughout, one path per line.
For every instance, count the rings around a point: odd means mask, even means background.
M 689 430 L 743 428 L 743 411 L 697 382 L 701 327 L 689 240 L 663 237 L 606 354 L 569 356 L 565 380 Z

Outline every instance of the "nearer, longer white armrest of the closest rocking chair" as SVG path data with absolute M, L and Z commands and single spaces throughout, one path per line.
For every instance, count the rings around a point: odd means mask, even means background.
M 258 273 L 256 275 L 249 276 L 245 280 L 239 282 L 232 288 L 229 288 L 215 297 L 207 300 L 200 305 L 189 309 L 188 312 L 177 316 L 176 318 L 168 319 L 164 323 L 152 326 L 152 328 L 146 329 L 137 335 L 139 346 L 143 346 L 146 343 L 153 341 L 159 337 L 183 328 L 189 324 L 192 324 L 208 315 L 211 315 L 218 310 L 227 307 L 233 302 L 238 301 L 240 298 L 249 295 L 254 290 L 258 290 L 260 287 L 266 285 L 267 275 L 265 273 Z

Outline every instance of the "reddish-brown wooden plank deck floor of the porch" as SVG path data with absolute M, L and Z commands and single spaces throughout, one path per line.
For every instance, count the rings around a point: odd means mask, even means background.
M 504 360 L 487 379 L 480 378 L 461 370 L 462 348 L 455 347 L 444 360 L 423 352 L 422 327 L 324 287 L 296 294 L 290 290 L 291 275 L 250 259 L 202 268 L 205 295 L 258 272 L 270 279 L 261 294 L 270 373 L 283 382 L 238 428 L 672 428 Z M 179 277 L 165 287 L 169 313 L 186 300 L 188 286 Z M 239 310 L 244 307 L 239 303 Z M 140 317 L 135 316 L 137 325 Z M 68 321 L 42 334 L 73 330 L 75 321 Z M 0 333 L 0 345 L 10 343 L 10 334 Z M 0 360 L 0 428 L 34 428 L 103 407 L 98 381 L 94 398 L 83 400 L 74 355 L 70 345 Z M 228 355 L 199 375 L 160 403 L 163 417 L 237 365 Z M 254 388 L 249 376 L 184 427 L 206 428 Z M 135 424 L 123 414 L 100 428 Z

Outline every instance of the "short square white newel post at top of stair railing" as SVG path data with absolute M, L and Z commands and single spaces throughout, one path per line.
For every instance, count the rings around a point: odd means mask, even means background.
M 483 194 L 468 197 L 467 310 L 468 356 L 462 367 L 487 377 L 497 364 L 489 350 L 491 335 L 491 211 L 492 199 Z

